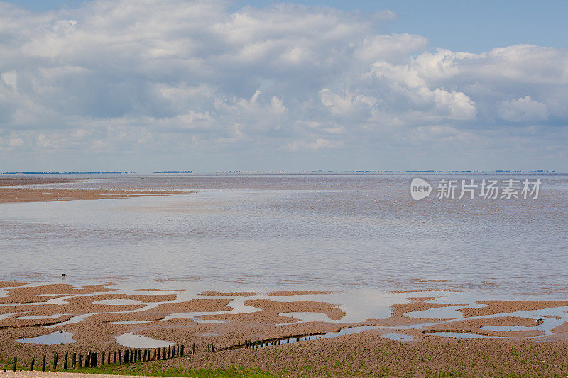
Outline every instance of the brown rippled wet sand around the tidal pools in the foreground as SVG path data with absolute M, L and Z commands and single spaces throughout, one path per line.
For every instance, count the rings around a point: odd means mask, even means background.
M 440 304 L 435 296 L 417 297 L 410 293 L 408 303 L 393 304 L 391 316 L 386 319 L 368 319 L 362 323 L 342 323 L 345 312 L 337 304 L 326 301 L 278 301 L 275 299 L 248 299 L 251 292 L 219 293 L 202 292 L 208 296 L 229 295 L 234 299 L 204 299 L 199 295 L 195 299 L 178 301 L 174 294 L 151 294 L 152 289 L 145 289 L 148 294 L 119 294 L 114 292 L 118 287 L 110 285 L 90 285 L 73 288 L 71 285 L 41 285 L 38 287 L 14 288 L 5 284 L 6 293 L 2 298 L 6 304 L 19 304 L 27 301 L 29 305 L 3 306 L 2 313 L 25 312 L 6 319 L 0 319 L 0 355 L 6 357 L 17 355 L 22 364 L 28 363 L 31 357 L 36 361 L 39 355 L 53 355 L 58 352 L 86 353 L 89 350 L 109 351 L 124 350 L 116 338 L 124 333 L 146 336 L 155 340 L 168 340 L 175 344 L 196 345 L 196 355 L 174 360 L 144 362 L 137 368 L 160 369 L 226 369 L 236 366 L 244 369 L 263 367 L 272 374 L 287 376 L 326 376 L 333 372 L 346 375 L 417 375 L 423 376 L 442 370 L 459 372 L 460 369 L 470 374 L 509 373 L 528 374 L 564 374 L 568 373 L 568 323 L 554 328 L 553 335 L 532 340 L 541 336 L 542 330 L 532 318 L 520 316 L 498 316 L 482 319 L 456 319 L 438 323 L 424 328 L 405 329 L 408 324 L 424 324 L 437 319 L 410 318 L 405 316 L 410 311 L 422 311 L 429 308 L 457 306 Z M 305 295 L 310 291 L 290 291 L 289 295 Z M 295 294 L 290 294 L 295 293 Z M 310 292 L 313 294 L 314 292 Z M 319 293 L 315 291 L 315 293 Z M 323 291 L 321 293 L 324 293 Z M 415 291 L 413 293 L 416 293 Z M 38 298 L 45 301 L 50 297 L 42 294 L 69 296 L 65 304 L 37 304 Z M 273 294 L 273 293 L 271 293 Z M 270 294 L 270 295 L 271 295 Z M 313 294 L 316 296 L 318 294 Z M 126 303 L 124 301 L 137 301 Z M 245 309 L 256 308 L 249 313 L 213 313 L 230 311 L 237 301 Z M 116 304 L 98 301 L 118 301 Z M 545 309 L 557 306 L 568 306 L 565 301 L 488 301 L 488 307 L 468 308 L 472 316 L 522 311 L 525 309 Z M 124 312 L 131 311 L 131 312 Z M 250 310 L 249 310 L 250 311 Z M 77 323 L 57 326 L 56 323 L 66 321 L 73 316 L 97 313 Z M 330 321 L 312 321 L 297 323 L 297 319 L 282 315 L 288 312 L 320 313 L 329 317 Z M 467 311 L 461 311 L 465 313 Z M 17 319 L 19 316 L 51 316 L 63 314 L 58 318 Z M 195 313 L 197 318 L 168 318 L 177 313 Z M 225 321 L 224 323 L 203 323 L 208 319 Z M 335 322 L 331 322 L 331 321 Z M 119 323 L 113 322 L 148 322 Z M 55 323 L 55 324 L 54 324 Z M 45 328 L 54 324 L 55 327 Z M 244 343 L 245 340 L 273 340 L 293 338 L 298 335 L 315 335 L 317 333 L 338 331 L 342 328 L 363 325 L 391 326 L 393 329 L 366 330 L 338 338 L 300 341 L 287 345 L 274 345 L 255 350 L 223 350 L 233 343 Z M 524 327 L 511 332 L 483 330 L 484 326 Z M 401 328 L 396 328 L 401 327 Z M 350 329 L 351 329 L 350 328 Z M 528 328 L 528 329 L 527 329 Z M 75 343 L 66 345 L 23 344 L 14 341 L 18 338 L 31 338 L 48 335 L 59 330 L 73 333 Z M 461 339 L 440 337 L 437 332 L 454 331 L 501 338 Z M 426 335 L 426 332 L 435 332 Z M 386 338 L 389 333 L 412 337 L 413 341 L 403 343 Z M 503 338 L 506 337 L 506 338 Z M 516 338 L 516 339 L 513 339 Z M 216 352 L 207 353 L 207 344 L 215 345 Z M 556 366 L 555 366 L 556 365 Z M 284 370 L 285 369 L 285 370 Z M 126 370 L 125 370 L 126 371 Z

